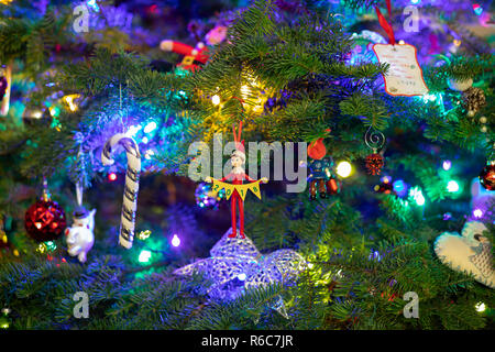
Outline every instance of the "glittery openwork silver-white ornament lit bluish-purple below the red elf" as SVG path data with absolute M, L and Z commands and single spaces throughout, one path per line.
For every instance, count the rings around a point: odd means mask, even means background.
M 211 249 L 210 257 L 177 268 L 174 274 L 190 276 L 201 273 L 212 283 L 207 289 L 210 297 L 230 300 L 250 288 L 274 283 L 294 285 L 299 272 L 306 268 L 304 257 L 293 250 L 262 255 L 249 238 L 232 237 L 232 233 L 229 229 L 223 234 Z M 280 308 L 280 305 L 275 307 Z

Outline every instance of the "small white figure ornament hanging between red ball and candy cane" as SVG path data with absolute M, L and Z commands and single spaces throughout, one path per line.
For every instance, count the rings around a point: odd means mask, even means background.
M 95 243 L 95 213 L 84 207 L 77 207 L 74 211 L 74 222 L 65 230 L 67 252 L 70 256 L 77 256 L 80 263 L 86 263 L 86 256 Z

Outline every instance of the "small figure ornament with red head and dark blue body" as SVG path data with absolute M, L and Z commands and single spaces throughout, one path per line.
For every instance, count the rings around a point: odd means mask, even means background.
M 326 130 L 329 133 L 331 130 Z M 315 142 L 308 145 L 308 156 L 311 161 L 308 164 L 309 167 L 309 199 L 315 200 L 318 194 L 320 198 L 327 198 L 327 195 L 337 195 L 340 191 L 337 177 L 332 173 L 333 158 L 326 157 L 327 147 L 323 143 L 323 138 L 317 139 Z

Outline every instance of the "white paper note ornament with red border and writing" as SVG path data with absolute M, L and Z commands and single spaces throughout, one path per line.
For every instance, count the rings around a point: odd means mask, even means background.
M 416 47 L 409 44 L 375 44 L 373 51 L 381 64 L 389 64 L 384 76 L 385 91 L 391 96 L 422 96 L 428 87 L 416 56 Z

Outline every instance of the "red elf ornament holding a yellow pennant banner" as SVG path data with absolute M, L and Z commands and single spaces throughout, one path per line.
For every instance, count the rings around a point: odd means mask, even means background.
M 235 125 L 232 127 L 233 136 L 235 142 L 235 151 L 232 153 L 230 162 L 232 165 L 232 172 L 223 177 L 222 179 L 215 179 L 207 177 L 207 183 L 213 183 L 213 190 L 220 191 L 226 189 L 227 199 L 232 197 L 231 200 L 231 213 L 232 213 L 232 233 L 230 237 L 234 238 L 238 235 L 237 229 L 237 217 L 235 207 L 239 208 L 239 220 L 240 220 L 240 231 L 239 235 L 244 238 L 244 198 L 248 191 L 251 190 L 257 198 L 261 199 L 260 183 L 266 184 L 268 180 L 262 178 L 260 180 L 251 178 L 244 170 L 243 165 L 245 164 L 245 150 L 244 141 L 241 141 L 242 133 L 242 121 L 239 123 L 239 134 L 235 133 Z M 246 179 L 250 184 L 243 185 L 243 180 Z M 226 180 L 231 180 L 232 184 L 224 183 Z

